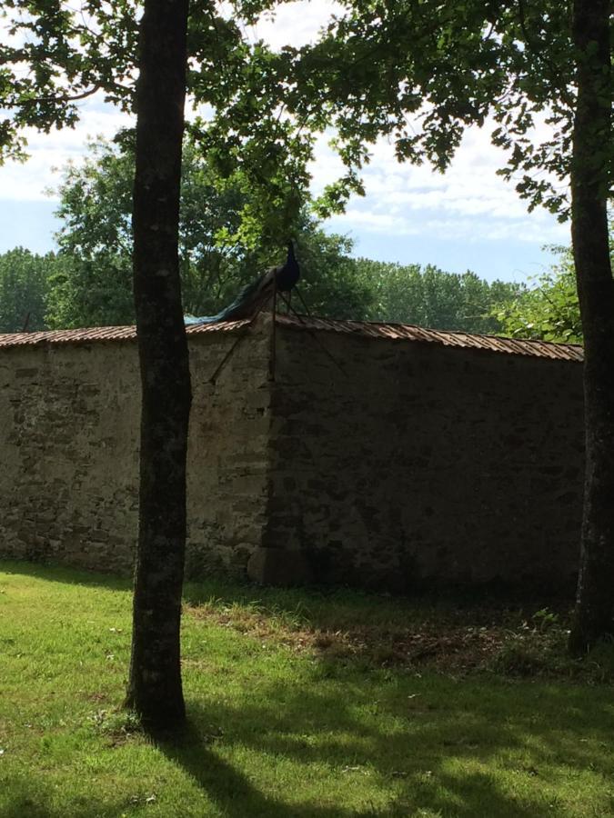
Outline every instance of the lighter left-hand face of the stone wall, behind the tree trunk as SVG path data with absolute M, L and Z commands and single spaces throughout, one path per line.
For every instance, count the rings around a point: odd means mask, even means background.
M 190 335 L 188 572 L 245 572 L 267 496 L 269 334 Z M 121 573 L 137 528 L 136 341 L 0 350 L 0 554 Z

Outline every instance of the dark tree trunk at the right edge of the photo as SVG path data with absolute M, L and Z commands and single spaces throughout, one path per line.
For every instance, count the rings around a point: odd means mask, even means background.
M 575 0 L 578 102 L 571 233 L 584 333 L 586 477 L 575 619 L 569 649 L 589 650 L 614 613 L 614 282 L 607 200 L 611 152 L 609 0 Z

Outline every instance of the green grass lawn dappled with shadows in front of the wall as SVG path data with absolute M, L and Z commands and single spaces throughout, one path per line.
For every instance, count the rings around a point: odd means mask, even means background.
M 537 606 L 186 587 L 190 730 L 122 713 L 128 584 L 0 564 L 0 816 L 614 815 L 611 647 Z

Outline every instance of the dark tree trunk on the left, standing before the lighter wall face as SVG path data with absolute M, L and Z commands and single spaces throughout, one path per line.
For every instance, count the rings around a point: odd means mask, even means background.
M 126 703 L 152 730 L 185 719 L 179 625 L 191 392 L 178 264 L 188 0 L 146 0 L 136 85 L 134 283 L 140 507 Z

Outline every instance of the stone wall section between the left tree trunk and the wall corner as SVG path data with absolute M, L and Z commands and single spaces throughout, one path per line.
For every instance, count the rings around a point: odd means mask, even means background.
M 194 399 L 187 458 L 187 573 L 245 576 L 267 511 L 270 318 L 263 315 L 216 379 L 236 334 L 190 335 Z

